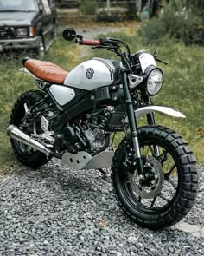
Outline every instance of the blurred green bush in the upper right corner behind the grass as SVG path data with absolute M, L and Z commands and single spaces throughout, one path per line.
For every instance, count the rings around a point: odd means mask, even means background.
M 176 2 L 177 3 L 177 2 Z M 201 16 L 193 10 L 184 10 L 181 3 L 169 3 L 163 14 L 141 26 L 143 43 L 160 43 L 168 38 L 182 40 L 186 44 L 204 45 Z

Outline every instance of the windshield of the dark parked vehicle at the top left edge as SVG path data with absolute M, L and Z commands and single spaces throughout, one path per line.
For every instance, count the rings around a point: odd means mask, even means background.
M 0 11 L 35 11 L 35 0 L 0 0 Z

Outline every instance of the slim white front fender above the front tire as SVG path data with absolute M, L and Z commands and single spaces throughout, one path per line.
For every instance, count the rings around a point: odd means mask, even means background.
M 185 115 L 182 115 L 181 112 L 175 111 L 172 108 L 163 107 L 163 106 L 147 106 L 143 108 L 138 108 L 135 110 L 136 119 L 140 118 L 143 115 L 150 114 L 152 112 L 162 112 L 163 114 L 170 115 L 173 117 L 182 117 L 185 118 Z

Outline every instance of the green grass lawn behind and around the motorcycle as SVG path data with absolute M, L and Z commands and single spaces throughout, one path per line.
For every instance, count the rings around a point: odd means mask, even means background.
M 131 46 L 131 51 L 143 49 L 135 33 L 114 33 L 114 37 L 121 38 Z M 204 163 L 204 51 L 200 47 L 185 47 L 182 43 L 165 42 L 163 45 L 150 46 L 148 50 L 157 50 L 158 56 L 168 62 L 163 69 L 164 85 L 161 93 L 156 95 L 154 103 L 175 108 L 187 116 L 186 119 L 174 119 L 166 115 L 156 114 L 156 123 L 175 129 L 180 133 L 193 149 L 199 164 Z M 73 43 L 57 38 L 52 49 L 44 56 L 44 60 L 54 62 L 63 69 L 70 70 L 78 63 L 88 59 L 80 55 L 81 48 Z M 115 58 L 105 50 L 90 51 L 91 56 Z M 11 108 L 18 96 L 24 91 L 36 89 L 34 81 L 28 75 L 18 70 L 22 68 L 21 59 L 0 60 L 0 170 L 18 168 L 10 148 L 10 141 L 6 136 L 6 128 L 10 119 Z M 121 139 L 118 136 L 117 141 Z M 20 166 L 21 167 L 21 166 Z

